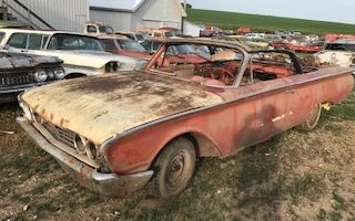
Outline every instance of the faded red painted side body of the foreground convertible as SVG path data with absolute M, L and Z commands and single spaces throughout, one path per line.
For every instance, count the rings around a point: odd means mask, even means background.
M 144 171 L 169 141 L 183 134 L 196 138 L 201 156 L 234 155 L 305 122 L 315 105 L 344 99 L 353 90 L 354 77 L 338 74 L 341 70 L 324 69 L 239 88 L 205 87 L 225 103 L 116 140 L 106 149 L 108 164 L 118 173 Z

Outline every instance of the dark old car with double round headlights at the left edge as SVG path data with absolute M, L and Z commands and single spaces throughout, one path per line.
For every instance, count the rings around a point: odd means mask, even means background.
M 18 94 L 65 76 L 62 61 L 51 56 L 36 56 L 0 52 L 0 104 L 17 101 Z

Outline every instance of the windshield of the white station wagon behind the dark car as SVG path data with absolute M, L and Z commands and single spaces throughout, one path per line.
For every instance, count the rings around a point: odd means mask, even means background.
M 85 35 L 77 34 L 54 34 L 49 44 L 48 50 L 89 50 L 89 51 L 103 51 L 99 40 Z

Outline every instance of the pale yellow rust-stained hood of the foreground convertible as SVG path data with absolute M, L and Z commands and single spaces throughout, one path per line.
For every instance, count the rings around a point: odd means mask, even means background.
M 95 145 L 162 117 L 223 102 L 202 86 L 143 71 L 62 81 L 31 90 L 21 99 L 44 120 Z

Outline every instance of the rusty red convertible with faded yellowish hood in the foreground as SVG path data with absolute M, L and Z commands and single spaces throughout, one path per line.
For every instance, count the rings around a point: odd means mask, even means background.
M 169 48 L 191 45 L 201 63 Z M 175 59 L 171 59 L 175 57 Z M 19 96 L 22 128 L 82 186 L 104 196 L 154 182 L 184 190 L 201 157 L 229 157 L 295 126 L 354 86 L 352 70 L 311 69 L 287 51 L 166 40 L 143 71 L 75 78 Z

